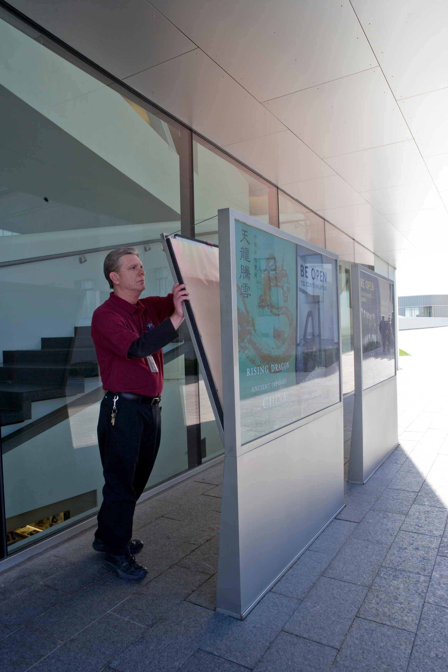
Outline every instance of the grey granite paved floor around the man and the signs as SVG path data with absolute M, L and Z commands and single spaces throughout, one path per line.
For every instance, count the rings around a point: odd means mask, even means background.
M 3 672 L 447 671 L 448 328 L 424 331 L 400 341 L 400 446 L 246 620 L 214 611 L 218 464 L 138 506 L 138 585 L 93 529 L 1 574 Z

